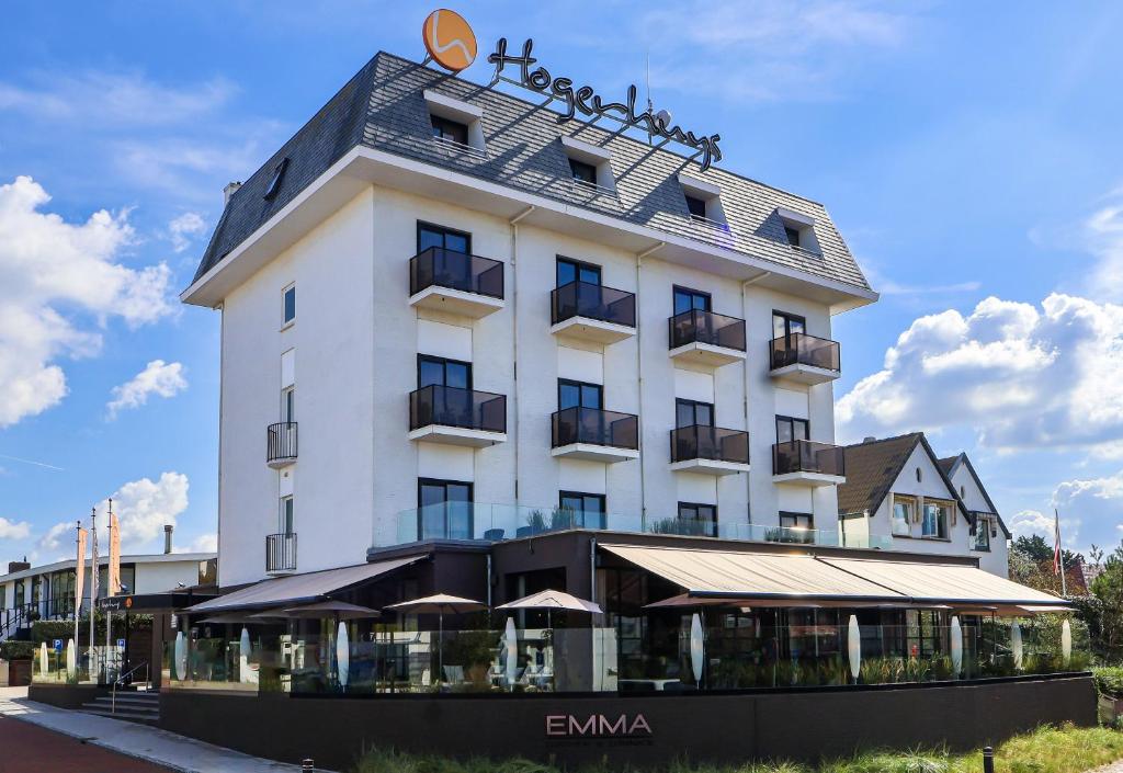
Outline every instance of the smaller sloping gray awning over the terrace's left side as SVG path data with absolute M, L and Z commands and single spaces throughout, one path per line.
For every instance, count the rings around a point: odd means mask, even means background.
M 232 593 L 226 593 L 214 599 L 188 607 L 185 612 L 218 612 L 232 609 L 265 609 L 274 607 L 292 607 L 298 603 L 321 601 L 329 593 L 336 593 L 355 585 L 369 582 L 402 566 L 416 563 L 424 556 L 392 558 L 357 566 L 329 569 L 322 572 L 292 574 L 286 578 L 263 580 Z

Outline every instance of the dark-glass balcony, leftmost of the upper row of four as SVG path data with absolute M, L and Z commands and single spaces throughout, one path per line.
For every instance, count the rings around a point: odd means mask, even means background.
M 503 264 L 429 247 L 410 258 L 410 306 L 480 319 L 503 308 Z

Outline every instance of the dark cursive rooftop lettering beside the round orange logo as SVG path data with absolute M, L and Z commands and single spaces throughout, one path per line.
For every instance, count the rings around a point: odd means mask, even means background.
M 511 56 L 506 53 L 506 38 L 501 37 L 495 44 L 495 51 L 487 57 L 487 61 L 495 65 L 492 83 L 501 80 L 506 65 L 518 65 L 519 80 L 503 80 L 562 100 L 565 110 L 558 116 L 559 124 L 573 120 L 578 112 L 583 116 L 593 116 L 593 120 L 608 116 L 615 118 L 624 126 L 642 129 L 651 136 L 663 137 L 694 148 L 702 155 L 700 163 L 703 171 L 710 169 L 712 162 L 721 161 L 721 148 L 718 147 L 721 135 L 699 136 L 693 131 L 684 131 L 678 126 L 668 126 L 670 117 L 664 111 L 655 115 L 651 113 L 650 109 L 636 112 L 637 90 L 634 85 L 628 87 L 628 97 L 623 102 L 604 102 L 590 85 L 575 89 L 572 79 L 554 78 L 546 67 L 531 69 L 538 62 L 531 56 L 533 46 L 533 40 L 527 40 L 522 44 L 522 55 Z

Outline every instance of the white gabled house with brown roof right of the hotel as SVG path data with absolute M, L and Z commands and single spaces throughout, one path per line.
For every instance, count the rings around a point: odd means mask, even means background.
M 866 539 L 896 551 L 974 555 L 982 569 L 1008 575 L 1008 534 L 966 456 L 957 457 L 962 462 L 955 467 L 961 480 L 956 485 L 922 433 L 867 438 L 846 446 L 844 453 L 839 519 L 848 543 Z M 986 525 L 985 537 L 976 522 Z M 992 527 L 997 529 L 993 537 Z

